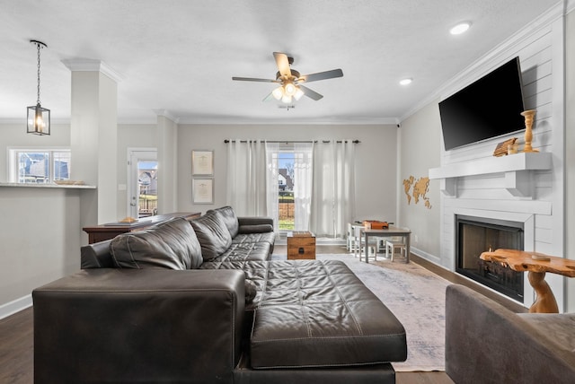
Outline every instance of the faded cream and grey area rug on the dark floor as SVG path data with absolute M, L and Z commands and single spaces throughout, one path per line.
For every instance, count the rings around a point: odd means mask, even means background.
M 345 262 L 402 322 L 407 335 L 407 360 L 394 362 L 395 371 L 445 371 L 447 280 L 412 261 L 370 260 L 367 264 L 348 254 L 316 257 Z

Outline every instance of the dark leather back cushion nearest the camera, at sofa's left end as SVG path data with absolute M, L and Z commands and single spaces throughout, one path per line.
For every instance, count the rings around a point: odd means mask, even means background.
M 196 233 L 181 217 L 116 236 L 110 242 L 110 253 L 118 268 L 183 270 L 198 268 L 203 262 Z

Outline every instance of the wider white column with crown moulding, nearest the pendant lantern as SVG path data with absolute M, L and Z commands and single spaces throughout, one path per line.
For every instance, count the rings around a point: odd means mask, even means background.
M 100 60 L 64 60 L 72 71 L 71 179 L 97 188 L 82 198 L 82 225 L 117 221 L 119 75 Z

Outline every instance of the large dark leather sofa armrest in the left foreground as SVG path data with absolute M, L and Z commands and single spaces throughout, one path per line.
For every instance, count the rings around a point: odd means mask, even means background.
M 86 269 L 32 297 L 35 380 L 232 381 L 242 271 Z

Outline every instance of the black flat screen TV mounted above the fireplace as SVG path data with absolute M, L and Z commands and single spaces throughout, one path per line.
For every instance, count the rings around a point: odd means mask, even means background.
M 439 102 L 446 151 L 525 128 L 519 57 Z

